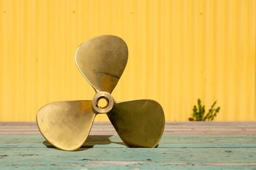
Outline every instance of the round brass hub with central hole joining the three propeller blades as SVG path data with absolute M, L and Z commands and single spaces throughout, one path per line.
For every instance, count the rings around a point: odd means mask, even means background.
M 97 92 L 92 99 L 93 110 L 97 113 L 108 113 L 114 106 L 114 99 L 108 92 Z

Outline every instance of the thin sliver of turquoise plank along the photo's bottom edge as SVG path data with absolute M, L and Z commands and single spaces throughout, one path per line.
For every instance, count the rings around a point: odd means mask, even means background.
M 9 169 L 106 169 L 106 170 L 128 170 L 128 169 L 227 169 L 227 170 L 234 170 L 234 169 L 243 169 L 243 170 L 255 170 L 255 166 L 253 165 L 219 165 L 219 164 L 168 164 L 168 163 L 136 163 L 136 162 L 108 162 L 102 164 L 52 164 L 52 165 L 40 165 L 34 164 L 33 166 L 20 166 L 19 164 L 13 164 L 11 167 L 1 167 L 1 170 L 9 170 Z

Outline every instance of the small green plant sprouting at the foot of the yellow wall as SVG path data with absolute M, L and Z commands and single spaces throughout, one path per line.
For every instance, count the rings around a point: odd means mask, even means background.
M 220 107 L 214 108 L 217 101 L 215 101 L 211 108 L 209 109 L 208 113 L 205 115 L 205 106 L 202 106 L 201 100 L 197 100 L 198 108 L 196 105 L 193 108 L 192 117 L 188 118 L 189 121 L 212 121 L 214 117 L 216 117 L 217 113 L 220 111 Z

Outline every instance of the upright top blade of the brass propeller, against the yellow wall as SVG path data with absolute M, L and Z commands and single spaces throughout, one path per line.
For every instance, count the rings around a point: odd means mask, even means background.
M 77 67 L 96 92 L 111 92 L 124 72 L 128 48 L 117 36 L 99 36 L 80 45 L 75 54 Z

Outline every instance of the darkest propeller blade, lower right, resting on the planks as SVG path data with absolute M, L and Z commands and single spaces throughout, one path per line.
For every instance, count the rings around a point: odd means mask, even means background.
M 129 147 L 155 147 L 164 131 L 164 112 L 156 101 L 116 103 L 108 117 Z

